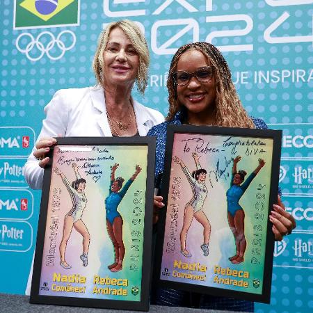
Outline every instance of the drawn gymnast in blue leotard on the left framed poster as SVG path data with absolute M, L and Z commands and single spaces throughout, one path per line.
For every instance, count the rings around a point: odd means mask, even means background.
M 122 263 L 125 255 L 125 246 L 123 243 L 123 219 L 118 212 L 118 205 L 124 198 L 129 186 L 136 179 L 139 172 L 141 172 L 141 166 L 136 166 L 136 170 L 131 178 L 122 187 L 124 179 L 118 177 L 115 179 L 115 170 L 118 168 L 118 163 L 115 163 L 111 167 L 111 184 L 109 188 L 109 195 L 106 197 L 106 230 L 113 243 L 115 261 L 109 265 L 108 268 L 112 272 L 118 272 L 122 269 Z

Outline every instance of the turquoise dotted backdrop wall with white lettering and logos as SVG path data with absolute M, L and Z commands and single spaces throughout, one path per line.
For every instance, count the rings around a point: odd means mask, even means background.
M 36 5 L 35 5 L 36 2 Z M 280 186 L 298 226 L 275 245 L 271 305 L 313 308 L 312 0 L 0 0 L 0 292 L 23 294 L 35 248 L 40 191 L 23 166 L 56 90 L 91 86 L 97 38 L 116 19 L 140 23 L 152 62 L 139 102 L 166 115 L 172 54 L 206 40 L 223 51 L 250 115 L 283 129 Z

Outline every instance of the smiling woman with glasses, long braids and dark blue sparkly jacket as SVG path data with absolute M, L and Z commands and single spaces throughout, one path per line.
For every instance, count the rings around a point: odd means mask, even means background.
M 163 172 L 168 125 L 267 128 L 263 120 L 248 116 L 236 93 L 225 58 L 214 45 L 207 42 L 194 42 L 177 50 L 170 63 L 167 87 L 170 107 L 166 122 L 152 127 L 147 134 L 157 137 L 156 177 L 160 177 Z M 162 197 L 157 196 L 154 211 L 163 205 Z M 278 204 L 273 204 L 270 220 L 276 240 L 282 240 L 282 236 L 296 227 L 294 218 L 284 211 L 279 196 Z M 154 298 L 157 305 L 245 312 L 254 310 L 250 301 L 174 289 L 157 289 Z

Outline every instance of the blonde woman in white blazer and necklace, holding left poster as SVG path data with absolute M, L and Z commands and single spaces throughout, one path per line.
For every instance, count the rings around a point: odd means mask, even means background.
M 152 126 L 163 122 L 161 113 L 131 97 L 135 83 L 144 94 L 149 63 L 147 42 L 134 22 L 124 19 L 106 26 L 93 59 L 96 86 L 58 90 L 45 107 L 39 141 L 24 166 L 31 188 L 42 188 L 54 137 L 145 136 Z M 31 279 L 26 294 L 30 288 Z

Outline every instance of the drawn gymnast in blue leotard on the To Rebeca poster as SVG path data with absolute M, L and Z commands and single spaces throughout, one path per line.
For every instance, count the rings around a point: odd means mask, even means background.
M 247 172 L 244 170 L 239 170 L 239 172 L 237 172 L 237 163 L 240 160 L 241 157 L 239 156 L 234 159 L 234 164 L 232 166 L 232 182 L 230 184 L 230 188 L 226 192 L 228 224 L 234 234 L 236 244 L 236 255 L 229 258 L 232 264 L 239 264 L 243 262 L 247 246 L 244 232 L 245 212 L 239 204 L 239 200 L 252 182 L 252 179 L 255 178 L 259 170 L 261 170 L 265 164 L 264 159 L 259 159 L 259 166 L 257 166 L 257 168 L 248 176 L 246 182 L 243 182 Z

